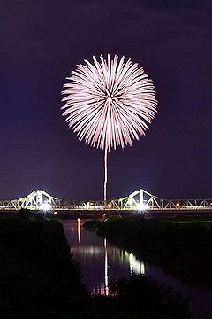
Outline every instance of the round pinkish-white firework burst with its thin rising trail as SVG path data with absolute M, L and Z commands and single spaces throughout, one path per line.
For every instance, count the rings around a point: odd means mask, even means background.
M 79 140 L 104 149 L 104 200 L 107 186 L 107 154 L 110 148 L 132 145 L 133 139 L 145 135 L 148 123 L 155 116 L 156 104 L 153 81 L 142 67 L 125 57 L 118 62 L 95 57 L 94 64 L 85 60 L 78 65 L 64 84 L 63 115 Z

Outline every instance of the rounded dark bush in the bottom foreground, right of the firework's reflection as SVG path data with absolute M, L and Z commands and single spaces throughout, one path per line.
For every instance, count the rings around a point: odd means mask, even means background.
M 117 301 L 117 307 L 132 309 L 133 314 L 147 315 L 147 318 L 189 318 L 188 299 L 181 292 L 173 293 L 171 288 L 161 284 L 155 278 L 131 276 L 114 283 L 111 295 Z M 146 318 L 146 316 L 145 316 Z

